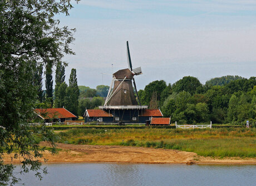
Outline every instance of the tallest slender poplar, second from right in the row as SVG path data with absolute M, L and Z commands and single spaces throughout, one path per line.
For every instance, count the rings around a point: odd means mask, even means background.
M 56 65 L 56 75 L 55 75 L 55 103 L 56 108 L 63 106 L 65 96 L 63 97 L 63 91 L 66 92 L 66 89 L 63 90 L 65 85 L 62 85 L 62 90 L 59 90 L 61 84 L 65 83 L 65 66 L 61 62 L 58 62 Z M 65 94 L 65 93 L 64 93 Z M 66 95 L 66 94 L 65 94 Z

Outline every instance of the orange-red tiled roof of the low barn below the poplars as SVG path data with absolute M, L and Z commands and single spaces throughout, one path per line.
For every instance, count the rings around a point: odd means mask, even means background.
M 35 112 L 44 119 L 76 117 L 65 108 L 36 108 Z

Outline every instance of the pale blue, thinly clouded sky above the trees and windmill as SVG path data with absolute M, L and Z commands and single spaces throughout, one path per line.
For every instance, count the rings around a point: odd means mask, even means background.
M 256 1 L 81 0 L 61 25 L 76 28 L 66 55 L 66 82 L 77 70 L 78 85 L 110 85 L 127 68 L 129 41 L 137 89 L 149 82 L 174 84 L 184 76 L 202 84 L 214 77 L 256 76 Z M 102 74 L 104 73 L 104 74 Z

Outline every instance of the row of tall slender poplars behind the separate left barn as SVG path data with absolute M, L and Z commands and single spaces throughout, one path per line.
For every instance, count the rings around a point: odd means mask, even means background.
M 42 90 L 43 66 L 37 65 L 33 74 L 33 85 L 37 87 L 37 103 L 36 108 L 61 108 L 65 107 L 68 111 L 77 115 L 78 97 L 80 91 L 77 85 L 76 69 L 72 69 L 68 85 L 65 82 L 65 64 L 58 62 L 55 70 L 55 89 L 53 90 L 53 66 L 47 64 L 45 68 L 45 86 L 46 90 Z

